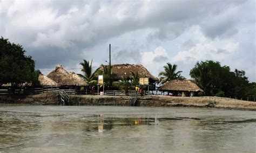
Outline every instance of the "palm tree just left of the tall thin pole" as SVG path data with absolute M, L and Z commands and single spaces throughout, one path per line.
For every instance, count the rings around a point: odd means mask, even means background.
M 92 73 L 92 60 L 91 60 L 91 63 L 89 60 L 88 61 L 84 60 L 84 62 L 80 62 L 80 65 L 83 66 L 81 71 L 84 73 L 83 78 L 85 79 L 85 81 L 89 85 L 94 84 L 95 81 L 97 81 L 97 79 L 95 78 L 95 75 L 93 75 L 93 73 Z

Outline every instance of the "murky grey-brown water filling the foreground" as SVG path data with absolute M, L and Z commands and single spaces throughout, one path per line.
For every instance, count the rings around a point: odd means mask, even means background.
M 0 106 L 0 151 L 255 152 L 255 127 L 241 110 Z

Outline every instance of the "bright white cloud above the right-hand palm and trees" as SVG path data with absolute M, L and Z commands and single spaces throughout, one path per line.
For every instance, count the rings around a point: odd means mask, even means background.
M 228 59 L 239 47 L 232 39 L 210 39 L 204 36 L 199 27 L 192 27 L 198 43 L 188 50 L 180 51 L 172 58 L 173 62 L 193 64 L 200 60 L 223 61 Z M 191 33 L 193 35 L 193 33 Z

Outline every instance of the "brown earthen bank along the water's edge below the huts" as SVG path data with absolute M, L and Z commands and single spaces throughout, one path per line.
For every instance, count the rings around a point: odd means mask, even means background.
M 0 104 L 15 105 L 59 105 L 57 94 L 44 93 L 30 96 L 0 96 Z M 126 96 L 102 95 L 70 95 L 69 105 L 75 106 L 129 106 Z M 256 102 L 234 100 L 219 97 L 174 97 L 174 96 L 144 96 L 139 98 L 137 106 L 153 107 L 214 107 L 225 109 L 256 110 Z

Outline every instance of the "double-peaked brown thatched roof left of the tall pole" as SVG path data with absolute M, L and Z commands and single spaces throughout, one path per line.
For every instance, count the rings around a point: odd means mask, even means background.
M 82 78 L 76 75 L 73 72 L 67 72 L 61 65 L 57 65 L 47 77 L 56 81 L 60 86 L 88 86 Z

